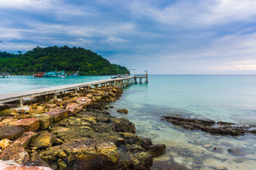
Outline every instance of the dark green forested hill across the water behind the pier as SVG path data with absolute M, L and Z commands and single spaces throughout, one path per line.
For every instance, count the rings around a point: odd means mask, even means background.
M 0 71 L 15 74 L 31 74 L 45 71 L 80 71 L 83 75 L 125 74 L 126 67 L 111 64 L 91 50 L 68 46 L 37 46 L 26 53 L 0 52 Z

